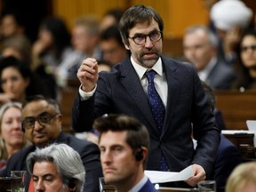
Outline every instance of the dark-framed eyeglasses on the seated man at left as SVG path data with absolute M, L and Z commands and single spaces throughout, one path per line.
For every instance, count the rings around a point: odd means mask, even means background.
M 51 115 L 47 112 L 43 112 L 38 116 L 29 116 L 21 122 L 22 129 L 34 128 L 36 121 L 42 125 L 51 124 L 52 118 L 57 115 L 58 115 L 58 113 Z

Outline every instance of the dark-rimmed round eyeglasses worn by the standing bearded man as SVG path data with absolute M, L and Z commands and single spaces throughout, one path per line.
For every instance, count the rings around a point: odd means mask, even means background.
M 132 38 L 135 44 L 142 45 L 146 43 L 147 36 L 149 37 L 151 42 L 158 42 L 162 38 L 162 31 L 153 31 L 148 35 L 136 34 L 133 37 L 129 36 L 129 38 Z

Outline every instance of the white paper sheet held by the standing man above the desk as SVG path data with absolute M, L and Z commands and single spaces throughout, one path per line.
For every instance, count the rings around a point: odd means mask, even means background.
M 191 165 L 182 170 L 181 172 L 158 172 L 146 170 L 144 173 L 152 183 L 188 180 L 189 177 L 193 176 Z

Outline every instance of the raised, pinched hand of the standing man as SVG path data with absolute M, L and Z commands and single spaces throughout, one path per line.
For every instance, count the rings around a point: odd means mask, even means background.
M 92 92 L 99 79 L 98 62 L 93 58 L 83 60 L 76 76 L 82 84 L 84 92 Z

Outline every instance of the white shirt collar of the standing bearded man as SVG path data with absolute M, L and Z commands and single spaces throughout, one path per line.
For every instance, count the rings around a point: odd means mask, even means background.
M 142 79 L 144 74 L 150 68 L 144 68 L 140 66 L 138 63 L 135 62 L 135 60 L 133 60 L 132 56 L 131 56 L 131 61 L 132 61 L 132 66 L 135 69 L 136 73 L 138 74 L 139 78 Z M 159 57 L 159 59 L 156 61 L 156 64 L 151 69 L 155 70 L 159 76 L 163 76 L 163 65 L 162 65 L 161 57 Z

